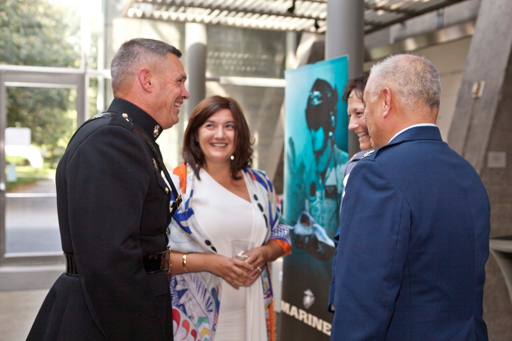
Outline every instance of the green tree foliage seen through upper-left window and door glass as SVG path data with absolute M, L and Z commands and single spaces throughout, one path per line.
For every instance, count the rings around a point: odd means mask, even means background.
M 52 67 L 80 66 L 78 2 L 0 1 L 0 63 Z M 10 87 L 7 126 L 28 127 L 32 143 L 50 152 L 65 147 L 76 129 L 76 90 Z

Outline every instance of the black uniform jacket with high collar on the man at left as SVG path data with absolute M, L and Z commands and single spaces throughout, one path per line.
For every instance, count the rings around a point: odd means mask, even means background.
M 167 247 L 170 190 L 133 126 L 153 140 L 161 129 L 154 137 L 157 122 L 125 100 L 108 111 L 77 131 L 57 167 L 62 249 L 78 276 L 57 279 L 28 340 L 173 338 L 166 272 L 146 273 L 142 256 Z

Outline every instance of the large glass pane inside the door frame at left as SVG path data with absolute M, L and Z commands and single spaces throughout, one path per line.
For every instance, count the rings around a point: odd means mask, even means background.
M 8 87 L 6 252 L 59 252 L 55 169 L 76 129 L 76 89 Z

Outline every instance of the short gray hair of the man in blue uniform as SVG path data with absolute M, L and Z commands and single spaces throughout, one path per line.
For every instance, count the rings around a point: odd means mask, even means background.
M 439 72 L 430 60 L 413 54 L 392 55 L 373 65 L 366 87 L 371 102 L 389 87 L 407 109 L 417 102 L 438 109 L 441 101 Z

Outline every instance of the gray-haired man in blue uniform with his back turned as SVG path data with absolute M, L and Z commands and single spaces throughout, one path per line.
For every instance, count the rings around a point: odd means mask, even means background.
M 372 67 L 364 102 L 375 151 L 345 190 L 332 340 L 487 340 L 489 202 L 441 140 L 440 92 L 425 58 Z

